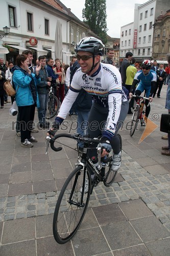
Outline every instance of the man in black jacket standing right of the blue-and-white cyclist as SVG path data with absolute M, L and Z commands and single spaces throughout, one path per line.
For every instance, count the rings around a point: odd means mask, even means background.
M 159 65 L 159 69 L 157 69 L 156 74 L 157 74 L 157 82 L 156 82 L 156 87 L 154 90 L 153 98 L 155 97 L 157 90 L 158 90 L 157 98 L 160 98 L 160 92 L 161 92 L 163 83 L 166 80 L 166 76 L 167 76 L 166 71 L 164 70 L 163 64 Z

